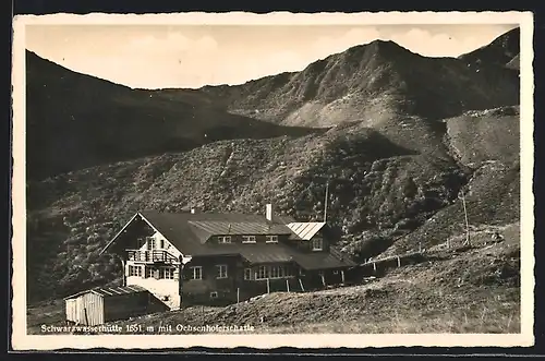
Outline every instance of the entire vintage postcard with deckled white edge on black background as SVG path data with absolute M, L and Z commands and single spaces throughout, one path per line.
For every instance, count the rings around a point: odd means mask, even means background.
M 532 346 L 532 38 L 15 16 L 13 348 Z

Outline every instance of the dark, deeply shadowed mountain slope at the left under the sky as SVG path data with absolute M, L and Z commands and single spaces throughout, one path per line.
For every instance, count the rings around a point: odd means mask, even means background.
M 28 177 L 182 152 L 225 139 L 304 135 L 217 109 L 203 93 L 131 89 L 26 52 Z

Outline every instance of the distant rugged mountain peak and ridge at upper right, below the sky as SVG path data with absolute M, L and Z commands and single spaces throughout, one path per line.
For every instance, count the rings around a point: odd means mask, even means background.
M 477 59 L 480 53 L 468 57 Z M 275 123 L 328 127 L 361 121 L 376 128 L 399 116 L 441 119 L 469 109 L 517 105 L 519 86 L 518 73 L 506 68 L 425 58 L 392 41 L 376 40 L 301 72 L 203 92 L 221 98 L 232 113 Z

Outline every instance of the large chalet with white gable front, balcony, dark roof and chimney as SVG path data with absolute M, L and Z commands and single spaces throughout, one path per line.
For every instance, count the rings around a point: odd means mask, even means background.
M 265 216 L 140 212 L 102 252 L 121 258 L 125 285 L 170 309 L 342 284 L 355 265 L 331 248 L 325 222 L 275 216 L 270 204 Z

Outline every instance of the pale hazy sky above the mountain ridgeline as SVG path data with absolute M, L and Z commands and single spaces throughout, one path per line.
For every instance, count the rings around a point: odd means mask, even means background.
M 26 48 L 133 88 L 242 84 L 376 39 L 457 57 L 517 25 L 27 25 Z

